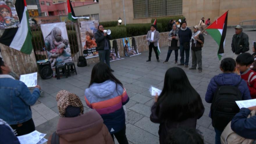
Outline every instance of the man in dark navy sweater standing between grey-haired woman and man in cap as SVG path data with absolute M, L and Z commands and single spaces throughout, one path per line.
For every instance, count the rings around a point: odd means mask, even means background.
M 181 29 L 179 30 L 179 51 L 180 51 L 180 64 L 184 65 L 185 68 L 189 67 L 189 49 L 190 49 L 190 39 L 192 36 L 192 32 L 189 28 L 187 28 L 186 22 L 181 22 Z M 186 60 L 184 63 L 184 52 L 186 54 Z

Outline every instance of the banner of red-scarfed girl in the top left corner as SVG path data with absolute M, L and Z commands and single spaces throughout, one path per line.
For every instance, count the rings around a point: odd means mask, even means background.
M 19 27 L 19 17 L 13 0 L 0 1 L 0 29 Z

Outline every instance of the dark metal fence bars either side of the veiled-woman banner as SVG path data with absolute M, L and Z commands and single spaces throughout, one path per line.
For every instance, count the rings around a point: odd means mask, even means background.
M 79 44 L 77 41 L 77 23 L 74 22 L 65 22 L 67 29 L 67 36 L 69 40 L 70 50 L 72 54 L 72 61 L 78 61 L 78 57 L 82 55 L 82 52 L 79 51 Z M 47 51 L 45 49 L 45 41 L 43 34 L 40 28 L 40 24 L 31 26 L 32 31 L 32 45 L 35 53 L 35 58 L 37 61 L 47 59 Z

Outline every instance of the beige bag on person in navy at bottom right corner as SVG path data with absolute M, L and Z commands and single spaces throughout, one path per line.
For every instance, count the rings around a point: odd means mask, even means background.
M 255 113 L 255 110 L 251 111 L 247 118 L 255 116 Z M 224 131 L 221 134 L 221 144 L 252 144 L 253 141 L 254 140 L 252 139 L 243 138 L 236 134 L 231 129 L 231 121 L 227 124 L 227 126 L 225 127 Z

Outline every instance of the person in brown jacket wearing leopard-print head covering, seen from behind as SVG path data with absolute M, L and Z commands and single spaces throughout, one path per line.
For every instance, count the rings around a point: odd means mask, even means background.
M 61 117 L 47 144 L 114 144 L 99 113 L 93 109 L 83 114 L 83 104 L 77 95 L 61 90 L 56 100 Z

